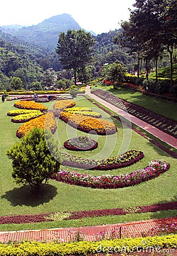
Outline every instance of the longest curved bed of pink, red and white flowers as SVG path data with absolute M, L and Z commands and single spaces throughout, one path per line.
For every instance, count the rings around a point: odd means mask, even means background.
M 154 179 L 163 174 L 170 168 L 170 163 L 165 160 L 151 161 L 147 167 L 136 170 L 130 174 L 123 174 L 119 176 L 102 175 L 94 176 L 88 174 L 78 174 L 75 171 L 61 170 L 52 176 L 52 179 L 62 181 L 72 185 L 80 185 L 82 187 L 91 188 L 124 188 L 132 185 L 140 184 L 144 181 Z

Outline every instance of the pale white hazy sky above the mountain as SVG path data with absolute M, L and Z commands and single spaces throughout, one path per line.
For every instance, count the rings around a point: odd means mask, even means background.
M 128 20 L 135 0 L 3 0 L 0 26 L 18 24 L 31 26 L 58 14 L 70 14 L 85 30 L 96 34 L 119 28 Z

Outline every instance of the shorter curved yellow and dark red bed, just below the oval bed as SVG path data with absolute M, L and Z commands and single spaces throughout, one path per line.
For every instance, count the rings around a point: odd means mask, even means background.
M 61 153 L 61 157 L 64 166 L 104 171 L 130 166 L 144 158 L 144 154 L 142 151 L 130 150 L 124 154 L 107 159 L 87 159 L 66 153 Z

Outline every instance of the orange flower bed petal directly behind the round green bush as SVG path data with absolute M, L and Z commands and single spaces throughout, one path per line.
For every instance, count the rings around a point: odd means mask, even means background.
M 41 117 L 36 117 L 35 119 L 31 119 L 30 121 L 23 123 L 23 125 L 20 126 L 16 131 L 16 136 L 22 138 L 34 127 L 39 127 L 41 129 L 44 129 L 45 127 L 54 133 L 56 131 L 57 125 L 53 113 L 49 112 L 47 114 L 41 115 Z

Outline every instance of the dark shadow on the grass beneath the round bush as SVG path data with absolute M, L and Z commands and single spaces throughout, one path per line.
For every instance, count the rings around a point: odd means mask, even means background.
M 10 201 L 12 206 L 26 205 L 36 207 L 44 203 L 48 203 L 57 195 L 57 188 L 50 184 L 45 184 L 39 189 L 39 192 L 33 191 L 28 185 L 20 188 L 14 188 L 11 191 L 7 191 L 5 195 L 1 196 L 1 199 Z

